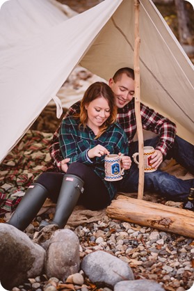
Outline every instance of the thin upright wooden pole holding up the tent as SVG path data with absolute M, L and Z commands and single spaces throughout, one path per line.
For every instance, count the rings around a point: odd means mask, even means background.
M 139 184 L 138 199 L 143 199 L 144 188 L 144 162 L 143 162 L 143 129 L 140 117 L 140 66 L 139 66 L 139 0 L 134 0 L 135 7 L 135 45 L 134 45 L 134 73 L 135 73 L 135 114 L 138 134 L 138 152 L 139 152 Z

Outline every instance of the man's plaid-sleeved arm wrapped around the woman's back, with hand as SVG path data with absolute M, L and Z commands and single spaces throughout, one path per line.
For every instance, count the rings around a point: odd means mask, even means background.
M 80 104 L 81 104 L 80 101 L 74 103 L 72 105 L 72 107 L 70 107 L 70 109 L 68 109 L 68 111 L 65 113 L 65 116 L 63 117 L 63 119 L 66 118 L 67 116 L 73 116 L 75 113 L 80 113 Z M 61 121 L 61 123 L 62 122 L 63 122 L 63 120 Z M 60 129 L 60 125 L 59 125 L 58 129 L 56 129 L 56 132 L 54 133 L 53 139 L 51 140 L 51 146 L 49 148 L 49 152 L 50 152 L 50 156 L 51 156 L 51 162 L 54 165 L 54 167 L 56 168 L 56 170 L 63 171 L 63 168 L 65 168 L 65 166 L 61 165 L 61 162 L 64 160 L 63 160 L 63 156 L 60 152 L 60 146 L 59 146 L 59 141 L 58 141 L 59 129 Z

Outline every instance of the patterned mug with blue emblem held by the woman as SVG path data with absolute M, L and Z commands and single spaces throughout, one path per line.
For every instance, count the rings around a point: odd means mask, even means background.
M 121 168 L 119 155 L 106 155 L 104 158 L 105 178 L 106 181 L 118 181 L 124 175 L 124 168 Z

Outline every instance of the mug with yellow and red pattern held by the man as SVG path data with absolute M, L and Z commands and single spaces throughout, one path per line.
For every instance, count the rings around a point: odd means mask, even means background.
M 145 173 L 150 173 L 156 171 L 156 168 L 152 168 L 152 164 L 150 163 L 150 159 L 152 159 L 152 155 L 154 154 L 155 150 L 152 146 L 144 146 L 143 147 L 143 159 L 144 159 L 144 171 Z M 137 156 L 139 155 L 138 152 L 135 152 L 132 155 L 134 162 L 139 165 L 137 161 Z

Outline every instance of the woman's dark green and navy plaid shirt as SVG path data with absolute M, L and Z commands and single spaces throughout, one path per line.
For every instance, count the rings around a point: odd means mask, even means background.
M 113 199 L 117 192 L 117 183 L 104 180 L 104 156 L 90 159 L 88 150 L 100 144 L 110 154 L 122 152 L 122 154 L 128 155 L 127 135 L 118 123 L 113 123 L 106 129 L 106 132 L 95 139 L 94 132 L 88 126 L 85 129 L 83 125 L 79 127 L 79 123 L 79 118 L 72 116 L 63 120 L 59 131 L 60 151 L 64 158 L 70 158 L 70 163 L 80 162 L 92 167 L 95 173 L 102 178 L 111 199 Z

